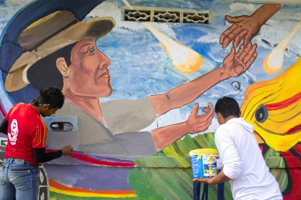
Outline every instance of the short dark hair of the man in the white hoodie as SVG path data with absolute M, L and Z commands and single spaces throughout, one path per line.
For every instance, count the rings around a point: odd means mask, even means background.
M 239 105 L 234 98 L 223 96 L 216 101 L 215 112 L 221 113 L 224 118 L 228 116 L 239 117 Z

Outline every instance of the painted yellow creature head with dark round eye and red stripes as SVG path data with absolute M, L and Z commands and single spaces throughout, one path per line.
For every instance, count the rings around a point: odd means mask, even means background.
M 301 141 L 300 71 L 301 57 L 278 76 L 253 83 L 245 92 L 242 117 L 255 126 L 258 142 L 263 139 L 275 150 L 286 151 Z

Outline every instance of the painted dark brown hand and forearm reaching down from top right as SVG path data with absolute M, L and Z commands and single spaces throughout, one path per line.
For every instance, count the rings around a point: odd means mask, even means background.
M 225 18 L 228 22 L 233 23 L 227 28 L 220 37 L 220 43 L 225 48 L 233 40 L 233 46 L 237 47 L 243 41 L 246 46 L 251 39 L 259 32 L 262 24 L 264 24 L 279 9 L 281 4 L 266 3 L 259 7 L 252 15 L 229 16 Z

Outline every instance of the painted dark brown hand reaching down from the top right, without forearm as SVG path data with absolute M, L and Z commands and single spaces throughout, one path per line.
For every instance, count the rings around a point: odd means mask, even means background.
M 225 16 L 226 20 L 233 23 L 227 28 L 220 37 L 220 44 L 225 48 L 233 40 L 233 46 L 237 47 L 241 41 L 243 46 L 251 42 L 251 39 L 259 32 L 260 23 L 256 21 L 253 16 L 242 15 L 242 16 Z

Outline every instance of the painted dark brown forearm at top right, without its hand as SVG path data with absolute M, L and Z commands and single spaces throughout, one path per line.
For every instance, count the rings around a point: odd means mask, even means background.
M 260 25 L 264 24 L 271 16 L 273 16 L 279 9 L 281 4 L 277 3 L 266 3 L 259 7 L 253 14 L 252 17 L 256 19 Z

